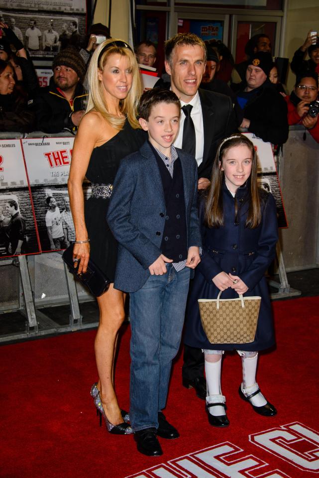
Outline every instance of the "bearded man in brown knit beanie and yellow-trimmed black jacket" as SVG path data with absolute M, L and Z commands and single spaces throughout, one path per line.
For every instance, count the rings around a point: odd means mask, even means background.
M 37 127 L 58 133 L 75 131 L 84 115 L 87 94 L 83 88 L 85 63 L 75 48 L 60 51 L 52 63 L 53 77 L 34 100 Z

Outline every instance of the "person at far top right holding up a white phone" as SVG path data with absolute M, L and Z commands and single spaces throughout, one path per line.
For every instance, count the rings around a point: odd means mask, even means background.
M 307 38 L 303 45 L 294 53 L 290 68 L 297 77 L 302 72 L 311 71 L 319 75 L 319 37 L 308 32 Z M 305 60 L 306 51 L 308 51 L 309 59 Z

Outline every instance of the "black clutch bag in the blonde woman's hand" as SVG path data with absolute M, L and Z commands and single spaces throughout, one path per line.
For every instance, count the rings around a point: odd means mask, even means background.
M 78 274 L 79 264 L 77 267 L 74 267 L 73 262 L 73 246 L 74 242 L 72 242 L 69 247 L 65 249 L 62 254 L 62 259 L 67 264 L 69 271 L 72 272 L 72 274 L 74 274 L 74 276 L 89 289 L 91 294 L 99 297 L 108 289 L 110 280 L 93 262 L 92 259 L 89 259 L 88 268 L 85 274 Z

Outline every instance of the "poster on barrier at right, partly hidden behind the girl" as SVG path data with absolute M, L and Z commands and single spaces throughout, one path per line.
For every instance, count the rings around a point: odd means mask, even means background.
M 284 201 L 280 189 L 271 143 L 263 141 L 262 139 L 255 136 L 253 133 L 243 134 L 246 134 L 255 146 L 255 150 L 258 157 L 257 181 L 259 183 L 259 186 L 271 193 L 275 198 L 277 206 L 278 227 L 288 228 Z

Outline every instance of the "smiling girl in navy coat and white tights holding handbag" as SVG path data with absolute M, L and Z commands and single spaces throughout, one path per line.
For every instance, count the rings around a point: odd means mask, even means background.
M 237 350 L 242 359 L 239 395 L 264 416 L 277 413 L 255 380 L 258 351 L 274 345 L 270 300 L 264 273 L 275 256 L 278 240 L 273 196 L 257 186 L 253 143 L 242 134 L 224 139 L 217 151 L 212 182 L 200 201 L 203 255 L 197 266 L 187 311 L 185 343 L 202 348 L 207 379 L 206 410 L 211 425 L 229 425 L 220 388 L 222 354 Z M 261 296 L 255 340 L 249 344 L 211 344 L 203 330 L 198 299 L 223 299 L 248 291 Z

